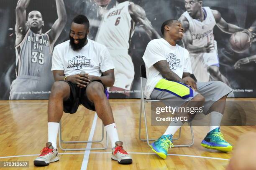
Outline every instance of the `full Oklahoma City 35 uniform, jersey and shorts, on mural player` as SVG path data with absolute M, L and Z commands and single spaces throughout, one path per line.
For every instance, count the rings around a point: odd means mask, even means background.
M 52 49 L 47 33 L 30 29 L 15 47 L 16 76 L 10 87 L 10 100 L 48 99 L 54 77 Z

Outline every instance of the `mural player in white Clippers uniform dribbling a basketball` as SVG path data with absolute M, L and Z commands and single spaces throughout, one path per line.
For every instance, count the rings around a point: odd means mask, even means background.
M 243 29 L 227 23 L 217 10 L 202 7 L 202 0 L 185 0 L 185 8 L 187 11 L 179 21 L 184 28 L 182 42 L 190 53 L 193 74 L 200 82 L 218 80 L 230 86 L 228 79 L 219 70 L 213 28 L 217 25 L 220 30 L 229 34 Z

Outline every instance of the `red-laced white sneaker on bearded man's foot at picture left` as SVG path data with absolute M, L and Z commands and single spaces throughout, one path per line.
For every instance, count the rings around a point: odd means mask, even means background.
M 59 160 L 58 150 L 54 149 L 50 142 L 40 151 L 41 155 L 34 160 L 35 166 L 47 166 Z

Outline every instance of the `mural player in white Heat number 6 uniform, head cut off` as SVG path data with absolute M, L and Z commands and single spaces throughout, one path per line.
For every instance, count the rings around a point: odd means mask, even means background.
M 100 6 L 99 10 L 102 11 L 102 8 L 106 8 L 111 0 L 95 0 L 95 2 Z M 128 49 L 135 25 L 142 25 L 151 39 L 160 38 L 146 17 L 143 8 L 133 2 L 117 3 L 102 16 L 96 42 L 108 47 L 115 65 L 115 84 L 110 87 L 110 91 L 131 90 L 134 66 L 131 56 L 128 55 Z M 129 92 L 123 94 L 130 95 Z

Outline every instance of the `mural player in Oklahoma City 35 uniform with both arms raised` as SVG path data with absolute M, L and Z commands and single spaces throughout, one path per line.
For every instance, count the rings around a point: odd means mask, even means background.
M 47 99 L 54 82 L 51 72 L 52 49 L 66 24 L 63 0 L 56 0 L 58 19 L 46 33 L 39 11 L 28 13 L 30 0 L 19 0 L 16 6 L 15 50 L 16 79 L 10 87 L 10 100 Z

